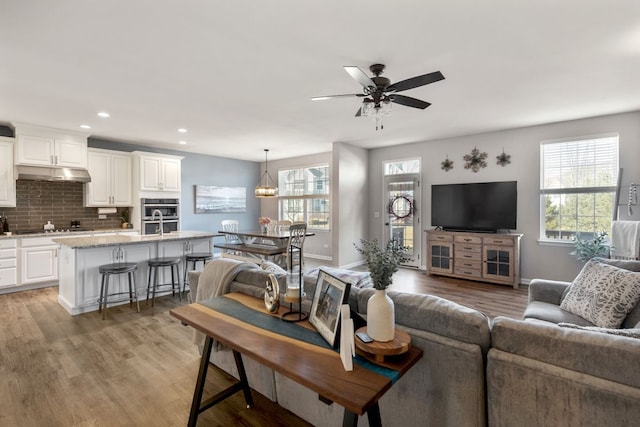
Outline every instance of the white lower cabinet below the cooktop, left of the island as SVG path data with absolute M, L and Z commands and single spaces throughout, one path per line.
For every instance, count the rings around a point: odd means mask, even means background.
M 58 280 L 58 245 L 51 239 L 23 239 L 20 259 L 20 285 Z

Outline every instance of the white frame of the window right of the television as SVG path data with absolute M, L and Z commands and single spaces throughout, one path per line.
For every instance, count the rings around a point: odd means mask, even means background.
M 586 187 L 586 186 L 580 186 L 578 185 L 577 187 L 561 187 L 561 188 L 545 188 L 545 159 L 544 159 L 544 146 L 547 145 L 551 145 L 551 144 L 567 144 L 567 143 L 571 143 L 571 142 L 587 142 L 587 141 L 593 141 L 593 140 L 598 140 L 598 139 L 605 139 L 605 138 L 616 138 L 616 159 L 615 159 L 615 165 L 612 168 L 612 170 L 614 170 L 614 177 L 611 180 L 611 182 L 609 184 L 611 185 L 600 185 L 600 186 L 591 186 L 591 187 Z M 615 192 L 616 192 L 616 181 L 618 179 L 618 173 L 619 173 L 619 157 L 620 157 L 620 136 L 618 133 L 607 133 L 607 134 L 598 134 L 598 135 L 588 135 L 588 136 L 581 136 L 581 137 L 574 137 L 574 138 L 563 138 L 563 139 L 555 139 L 555 140 L 547 140 L 547 141 L 542 141 L 540 143 L 540 231 L 539 231 L 539 242 L 540 243 L 544 243 L 544 244 L 551 244 L 551 245 L 573 245 L 573 239 L 552 239 L 552 238 L 548 238 L 546 235 L 546 196 L 547 195 L 580 195 L 580 194 L 601 194 L 601 193 L 611 193 L 612 199 L 615 199 Z M 596 163 L 597 164 L 597 163 Z M 615 202 L 614 202 L 615 203 Z M 613 215 L 613 209 L 616 209 L 616 206 L 614 206 L 614 203 L 612 203 L 611 205 L 611 212 L 610 215 Z M 580 218 L 580 216 L 576 213 L 576 220 L 578 220 Z M 595 224 L 595 218 L 597 218 L 595 216 L 595 212 L 594 212 L 594 224 Z M 565 230 L 565 231 L 571 231 L 571 230 Z M 573 230 L 574 232 L 579 232 L 578 230 Z M 606 231 L 609 232 L 610 230 L 599 230 L 599 229 L 595 229 L 592 230 L 593 232 L 596 231 Z

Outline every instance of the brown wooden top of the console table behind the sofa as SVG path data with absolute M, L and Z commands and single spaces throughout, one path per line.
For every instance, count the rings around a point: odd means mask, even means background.
M 225 296 L 267 313 L 260 299 L 244 294 Z M 392 385 L 389 378 L 356 363 L 353 371 L 345 371 L 340 354 L 332 349 L 250 325 L 202 304 L 177 307 L 170 314 L 358 415 L 366 413 Z M 300 324 L 313 329 L 308 322 Z M 402 375 L 421 357 L 422 350 L 412 347 L 392 364 L 393 369 Z

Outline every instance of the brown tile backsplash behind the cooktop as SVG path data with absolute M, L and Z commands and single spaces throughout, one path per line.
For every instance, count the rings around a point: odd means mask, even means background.
M 0 215 L 7 217 L 9 231 L 42 230 L 47 221 L 58 229 L 67 229 L 72 220 L 90 230 L 120 227 L 118 208 L 107 219 L 98 219 L 98 208 L 84 207 L 84 184 L 79 182 L 16 181 L 16 207 L 0 207 Z

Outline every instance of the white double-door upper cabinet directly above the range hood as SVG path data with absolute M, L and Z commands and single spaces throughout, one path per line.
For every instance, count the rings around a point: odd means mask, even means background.
M 16 164 L 87 168 L 87 134 L 16 125 Z

